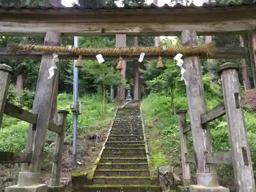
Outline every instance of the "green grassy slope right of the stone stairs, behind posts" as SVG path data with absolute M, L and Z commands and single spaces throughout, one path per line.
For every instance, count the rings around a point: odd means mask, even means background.
M 222 96 L 218 89 L 210 90 L 209 84 L 204 83 L 207 109 L 221 103 Z M 187 101 L 184 92 L 177 93 L 175 97 L 175 109 L 187 109 Z M 151 153 L 151 169 L 153 173 L 159 166 L 180 167 L 180 137 L 177 115 L 170 108 L 170 97 L 160 94 L 150 94 L 143 100 L 143 117 L 146 124 L 148 147 Z M 245 111 L 245 121 L 250 144 L 252 162 L 256 162 L 256 115 Z M 187 120 L 189 116 L 187 114 Z M 226 117 L 222 117 L 209 123 L 211 129 L 212 148 L 214 152 L 230 151 Z M 193 153 L 193 141 L 191 133 L 188 134 L 189 153 Z M 256 165 L 253 164 L 256 170 Z M 232 165 L 219 165 L 220 177 L 229 176 L 233 179 Z

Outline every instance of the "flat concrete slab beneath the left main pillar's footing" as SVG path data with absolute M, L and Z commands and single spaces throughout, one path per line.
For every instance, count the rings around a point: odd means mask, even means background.
M 18 186 L 13 185 L 5 188 L 5 192 L 47 192 L 46 184 L 39 184 L 33 186 Z

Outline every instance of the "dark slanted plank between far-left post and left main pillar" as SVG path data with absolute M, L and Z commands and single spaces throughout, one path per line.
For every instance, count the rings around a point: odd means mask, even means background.
M 9 102 L 6 103 L 5 114 L 11 117 L 26 121 L 31 124 L 36 124 L 36 121 L 37 121 L 36 114 L 33 114 Z

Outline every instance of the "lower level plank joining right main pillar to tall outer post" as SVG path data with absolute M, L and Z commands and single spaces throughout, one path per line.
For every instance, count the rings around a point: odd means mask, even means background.
M 206 154 L 205 158 L 206 158 L 207 163 L 232 164 L 232 153 L 231 152 Z

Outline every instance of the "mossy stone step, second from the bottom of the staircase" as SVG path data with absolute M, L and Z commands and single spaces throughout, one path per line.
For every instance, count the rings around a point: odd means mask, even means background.
M 92 183 L 93 184 L 100 184 L 100 185 L 148 185 L 151 184 L 152 178 L 148 176 L 141 176 L 141 177 L 107 177 L 107 176 L 99 176 L 93 177 Z

